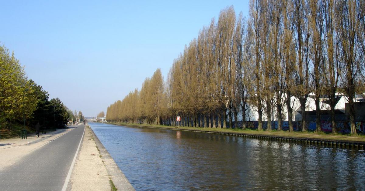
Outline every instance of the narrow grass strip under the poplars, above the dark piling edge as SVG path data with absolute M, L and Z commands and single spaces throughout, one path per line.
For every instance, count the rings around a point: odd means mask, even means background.
M 267 135 L 267 136 L 280 136 L 287 138 L 308 138 L 308 139 L 324 139 L 324 140 L 345 140 L 365 142 L 365 135 L 350 135 L 350 134 L 326 134 L 324 132 L 289 132 L 289 131 L 258 131 L 251 129 L 227 129 L 227 128 L 206 128 L 206 127 L 173 127 L 163 125 L 147 125 L 147 124 L 126 124 L 126 123 L 111 123 L 127 126 L 141 126 L 141 127 L 153 127 L 153 128 L 167 128 L 173 130 L 198 130 L 198 131 L 210 131 L 210 132 L 227 132 L 234 134 L 250 134 L 250 135 Z

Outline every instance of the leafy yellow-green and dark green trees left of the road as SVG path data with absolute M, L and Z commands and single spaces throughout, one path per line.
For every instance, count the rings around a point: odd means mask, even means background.
M 30 128 L 37 123 L 46 128 L 64 127 L 72 118 L 76 119 L 73 112 L 58 98 L 49 100 L 48 92 L 27 78 L 14 52 L 1 45 L 0 129 L 15 130 L 14 126 L 23 126 L 24 119 Z

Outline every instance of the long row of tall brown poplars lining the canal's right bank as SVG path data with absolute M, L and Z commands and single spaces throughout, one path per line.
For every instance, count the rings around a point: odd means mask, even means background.
M 140 91 L 108 107 L 107 120 L 174 125 L 181 115 L 189 118 L 186 125 L 215 127 L 218 120 L 218 127 L 238 127 L 237 116 L 246 116 L 250 103 L 259 130 L 263 113 L 272 130 L 273 110 L 281 130 L 285 106 L 293 131 L 291 96 L 305 111 L 314 92 L 320 131 L 320 98 L 330 100 L 336 127 L 335 93 L 343 92 L 356 134 L 353 102 L 364 90 L 364 13 L 365 1 L 357 0 L 251 0 L 247 18 L 227 7 L 185 46 L 166 82 L 157 69 Z M 245 117 L 242 128 L 244 122 Z M 303 131 L 307 123 L 302 121 Z

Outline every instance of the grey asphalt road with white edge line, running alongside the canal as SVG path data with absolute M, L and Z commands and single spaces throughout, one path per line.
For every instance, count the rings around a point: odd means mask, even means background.
M 84 124 L 80 124 L 14 165 L 0 167 L 0 190 L 61 191 L 83 132 Z

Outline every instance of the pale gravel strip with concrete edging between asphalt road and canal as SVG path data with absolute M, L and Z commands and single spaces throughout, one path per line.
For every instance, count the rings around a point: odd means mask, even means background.
M 85 125 L 82 146 L 78 152 L 71 178 L 66 190 L 134 191 L 132 185 L 92 129 Z

